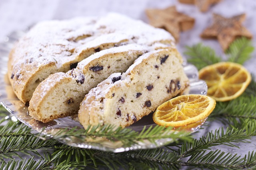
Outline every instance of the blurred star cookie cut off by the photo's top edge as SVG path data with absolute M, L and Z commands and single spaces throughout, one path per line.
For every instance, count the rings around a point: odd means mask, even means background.
M 201 12 L 206 12 L 210 6 L 217 4 L 221 0 L 179 0 L 184 4 L 195 4 Z

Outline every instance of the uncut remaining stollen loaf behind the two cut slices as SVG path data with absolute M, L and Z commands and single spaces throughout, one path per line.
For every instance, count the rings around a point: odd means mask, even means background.
M 98 51 L 154 42 L 173 44 L 174 39 L 162 29 L 115 13 L 101 18 L 43 21 L 14 45 L 8 77 L 17 97 L 26 103 L 50 74 L 67 72 Z

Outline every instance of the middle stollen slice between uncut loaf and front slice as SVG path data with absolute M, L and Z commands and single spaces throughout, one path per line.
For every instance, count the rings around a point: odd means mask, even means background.
M 66 74 L 50 75 L 36 88 L 30 106 L 30 115 L 44 123 L 78 113 L 85 94 L 114 72 L 125 72 L 140 55 L 163 44 L 142 46 L 136 44 L 102 50 L 78 63 Z M 152 51 L 152 50 L 151 50 Z

